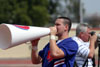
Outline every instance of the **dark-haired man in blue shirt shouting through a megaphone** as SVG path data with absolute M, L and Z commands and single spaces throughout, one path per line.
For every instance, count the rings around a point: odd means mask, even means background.
M 58 17 L 55 26 L 50 27 L 50 43 L 43 50 L 36 52 L 38 41 L 32 41 L 32 62 L 42 67 L 73 67 L 75 55 L 78 50 L 77 43 L 68 37 L 71 29 L 71 20 L 67 17 Z M 58 36 L 56 43 L 55 36 Z

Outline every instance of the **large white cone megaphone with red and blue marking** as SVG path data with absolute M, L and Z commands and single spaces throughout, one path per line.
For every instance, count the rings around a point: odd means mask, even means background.
M 46 36 L 49 28 L 12 24 L 0 25 L 0 48 L 7 49 Z

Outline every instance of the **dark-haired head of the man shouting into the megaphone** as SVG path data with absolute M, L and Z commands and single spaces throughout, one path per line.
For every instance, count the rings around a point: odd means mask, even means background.
M 71 25 L 71 20 L 68 17 L 58 17 L 55 21 L 58 34 L 62 34 L 65 31 L 69 32 Z

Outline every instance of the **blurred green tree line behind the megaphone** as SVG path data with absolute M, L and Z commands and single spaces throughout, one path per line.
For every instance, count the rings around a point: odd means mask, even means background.
M 79 9 L 79 0 L 0 0 L 0 24 L 45 26 L 53 24 L 59 15 L 79 23 Z M 82 11 L 84 15 L 84 7 Z

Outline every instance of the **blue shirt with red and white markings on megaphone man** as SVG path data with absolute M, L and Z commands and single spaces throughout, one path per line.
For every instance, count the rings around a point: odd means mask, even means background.
M 50 57 L 49 43 L 39 52 L 43 59 L 42 67 L 73 67 L 75 56 L 78 50 L 77 43 L 72 38 L 67 38 L 57 44 L 63 50 L 65 57 L 52 59 Z

